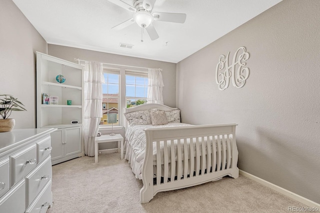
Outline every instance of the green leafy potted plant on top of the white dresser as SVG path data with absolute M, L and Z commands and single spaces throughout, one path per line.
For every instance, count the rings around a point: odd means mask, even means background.
M 0 132 L 10 132 L 14 125 L 15 120 L 9 119 L 12 111 L 26 111 L 24 106 L 17 98 L 12 95 L 0 95 Z

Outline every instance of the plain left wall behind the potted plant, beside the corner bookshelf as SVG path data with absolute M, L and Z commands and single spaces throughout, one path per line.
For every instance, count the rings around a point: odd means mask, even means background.
M 14 128 L 35 128 L 35 51 L 47 43 L 12 0 L 0 1 L 0 94 L 21 101 L 26 112 L 12 112 Z

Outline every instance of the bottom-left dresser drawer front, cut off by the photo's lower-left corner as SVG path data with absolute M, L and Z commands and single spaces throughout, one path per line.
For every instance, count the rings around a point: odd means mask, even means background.
M 11 188 L 0 199 L 0 213 L 23 213 L 25 210 L 24 180 Z

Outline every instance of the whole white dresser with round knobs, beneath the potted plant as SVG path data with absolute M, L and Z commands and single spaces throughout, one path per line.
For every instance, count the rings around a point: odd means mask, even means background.
M 55 130 L 0 133 L 0 213 L 45 213 L 52 205 L 50 133 Z

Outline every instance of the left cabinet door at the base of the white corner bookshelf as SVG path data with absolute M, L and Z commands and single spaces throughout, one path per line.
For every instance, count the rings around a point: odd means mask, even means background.
M 51 160 L 64 157 L 64 129 L 57 129 L 51 133 Z

